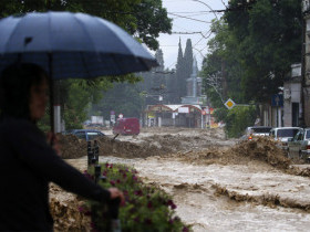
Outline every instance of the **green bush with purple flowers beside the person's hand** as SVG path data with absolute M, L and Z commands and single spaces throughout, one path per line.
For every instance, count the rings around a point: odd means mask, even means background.
M 120 208 L 118 215 L 122 231 L 189 231 L 189 228 L 175 215 L 176 205 L 170 196 L 144 184 L 136 170 L 112 164 L 102 165 L 102 169 L 106 180 L 101 182 L 101 186 L 105 189 L 116 187 L 125 196 L 126 204 Z M 92 178 L 93 170 L 89 172 L 85 175 Z M 93 209 L 92 213 L 96 219 L 95 230 L 108 231 L 107 209 L 92 201 L 87 205 Z

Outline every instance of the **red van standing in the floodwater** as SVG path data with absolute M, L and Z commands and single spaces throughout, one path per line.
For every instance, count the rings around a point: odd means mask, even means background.
M 138 135 L 140 123 L 136 117 L 118 118 L 113 126 L 113 134 L 120 135 Z

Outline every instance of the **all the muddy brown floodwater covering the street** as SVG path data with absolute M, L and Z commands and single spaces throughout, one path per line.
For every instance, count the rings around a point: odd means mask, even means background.
M 294 166 L 270 139 L 240 143 L 220 130 L 158 129 L 112 144 L 106 134 L 100 161 L 136 168 L 144 182 L 173 196 L 177 214 L 194 231 L 309 231 L 310 168 Z M 68 160 L 80 170 L 86 168 L 83 152 Z M 80 201 L 56 193 L 64 203 L 59 214 L 73 220 L 56 215 L 56 226 L 87 231 L 74 210 L 63 212 Z

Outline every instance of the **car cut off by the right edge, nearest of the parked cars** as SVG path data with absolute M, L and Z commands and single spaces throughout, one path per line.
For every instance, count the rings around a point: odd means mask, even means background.
M 288 157 L 310 161 L 310 128 L 300 129 L 293 138 L 288 139 Z

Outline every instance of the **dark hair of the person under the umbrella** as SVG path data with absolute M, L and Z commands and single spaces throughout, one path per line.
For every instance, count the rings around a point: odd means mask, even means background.
M 37 64 L 16 63 L 0 76 L 0 115 L 30 119 L 30 88 L 48 75 Z

